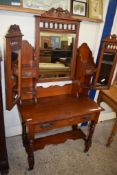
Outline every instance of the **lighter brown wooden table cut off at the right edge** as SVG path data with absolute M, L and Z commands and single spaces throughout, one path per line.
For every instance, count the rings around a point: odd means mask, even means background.
M 98 103 L 101 102 L 107 103 L 116 112 L 116 121 L 107 141 L 107 146 L 110 146 L 117 132 L 117 86 L 111 86 L 108 90 L 101 90 L 98 96 Z

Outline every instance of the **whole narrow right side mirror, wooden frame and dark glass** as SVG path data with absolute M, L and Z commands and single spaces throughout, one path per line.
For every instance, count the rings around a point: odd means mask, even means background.
M 109 88 L 117 63 L 117 37 L 108 36 L 102 43 L 94 86 L 97 89 Z

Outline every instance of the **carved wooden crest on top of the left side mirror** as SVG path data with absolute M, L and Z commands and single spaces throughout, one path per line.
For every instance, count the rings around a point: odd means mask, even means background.
M 11 25 L 6 37 L 22 36 L 21 30 L 18 25 Z

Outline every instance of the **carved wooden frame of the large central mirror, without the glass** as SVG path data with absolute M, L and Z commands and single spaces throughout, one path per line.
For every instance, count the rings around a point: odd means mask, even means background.
M 48 27 L 45 25 L 46 23 L 48 24 Z M 53 24 L 53 28 L 51 27 L 50 23 Z M 59 24 L 62 24 L 62 28 L 59 28 Z M 66 27 L 64 27 L 64 25 L 66 25 Z M 69 25 L 71 25 L 71 28 L 68 27 Z M 35 16 L 35 57 L 38 64 L 40 63 L 40 32 L 75 34 L 71 63 L 71 76 L 63 78 L 43 78 L 39 79 L 39 82 L 72 80 L 74 78 L 79 27 L 80 21 L 78 19 L 74 19 L 68 10 L 63 10 L 62 8 L 52 8 L 41 16 Z

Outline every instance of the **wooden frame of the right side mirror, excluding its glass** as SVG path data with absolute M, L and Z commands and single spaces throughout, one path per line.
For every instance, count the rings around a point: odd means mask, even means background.
M 109 75 L 108 84 L 97 86 L 104 53 L 111 53 L 111 54 L 113 53 L 114 54 L 112 69 L 111 69 L 111 72 Z M 94 79 L 94 88 L 95 89 L 109 89 L 110 88 L 116 64 L 117 64 L 117 36 L 116 35 L 109 35 L 102 41 L 100 54 L 99 54 L 99 58 L 98 58 L 97 72 L 96 72 L 95 79 Z

